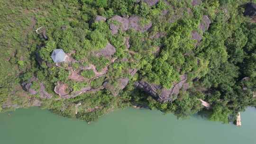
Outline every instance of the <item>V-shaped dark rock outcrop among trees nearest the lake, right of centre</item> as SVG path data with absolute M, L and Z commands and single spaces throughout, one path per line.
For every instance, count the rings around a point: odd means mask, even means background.
M 174 83 L 171 89 L 165 89 L 162 86 L 156 84 L 150 84 L 145 81 L 137 81 L 135 82 L 135 86 L 149 95 L 153 96 L 160 102 L 171 102 L 173 101 L 176 95 L 179 94 L 180 90 L 183 88 L 187 81 L 186 75 L 181 76 L 181 81 Z M 187 85 L 186 85 L 187 87 Z M 186 90 L 187 88 L 183 89 Z

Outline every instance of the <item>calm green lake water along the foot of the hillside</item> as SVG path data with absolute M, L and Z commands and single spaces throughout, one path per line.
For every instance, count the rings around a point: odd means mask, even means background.
M 17 109 L 0 114 L 0 144 L 256 144 L 256 109 L 241 118 L 237 127 L 128 108 L 88 125 L 39 108 Z

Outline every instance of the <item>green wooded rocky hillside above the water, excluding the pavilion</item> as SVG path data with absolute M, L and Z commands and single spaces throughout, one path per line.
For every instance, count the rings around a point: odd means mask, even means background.
M 0 111 L 40 106 L 90 122 L 134 106 L 234 121 L 256 106 L 249 1 L 1 0 Z

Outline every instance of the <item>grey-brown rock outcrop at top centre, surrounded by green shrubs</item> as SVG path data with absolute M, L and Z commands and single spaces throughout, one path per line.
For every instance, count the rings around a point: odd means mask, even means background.
M 140 20 L 141 18 L 138 16 L 131 16 L 130 18 L 123 18 L 120 16 L 113 16 L 112 18 L 109 19 L 110 21 L 110 30 L 111 33 L 117 34 L 118 30 L 122 30 L 122 31 L 127 31 L 130 28 L 133 28 L 137 31 L 140 32 L 145 32 L 147 31 L 150 27 L 152 27 L 152 23 L 148 23 L 144 26 L 142 26 L 140 24 Z M 117 23 L 115 23 L 114 21 L 116 21 Z

